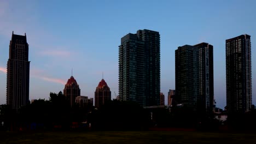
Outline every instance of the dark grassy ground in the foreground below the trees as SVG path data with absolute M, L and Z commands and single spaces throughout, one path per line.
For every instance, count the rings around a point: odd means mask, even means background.
M 1 132 L 0 143 L 256 143 L 252 133 L 199 131 Z

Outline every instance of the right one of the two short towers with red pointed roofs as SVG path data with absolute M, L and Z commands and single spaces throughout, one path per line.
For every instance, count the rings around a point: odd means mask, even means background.
M 94 98 L 95 98 L 95 107 L 97 107 L 97 108 L 101 107 L 107 101 L 111 100 L 111 91 L 104 79 L 102 79 L 98 83 L 98 86 L 96 87 Z

